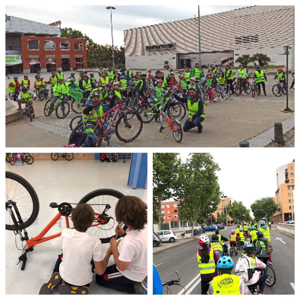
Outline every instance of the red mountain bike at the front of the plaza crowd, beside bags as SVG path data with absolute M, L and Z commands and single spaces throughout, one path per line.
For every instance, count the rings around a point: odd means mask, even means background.
M 96 147 L 101 146 L 102 140 L 107 141 L 109 146 L 111 134 L 114 132 L 116 132 L 116 136 L 120 141 L 125 143 L 132 142 L 140 135 L 143 129 L 143 121 L 140 114 L 137 112 L 124 112 L 124 110 L 126 110 L 126 106 L 121 102 L 107 113 L 100 116 L 96 122 L 89 121 L 90 117 L 86 122 L 80 122 L 70 134 L 68 145 L 74 145 L 73 138 L 78 135 L 80 136 L 80 143 L 82 144 L 88 137 L 87 132 L 95 137 Z M 115 114 L 111 117 L 110 113 L 113 111 L 115 111 Z M 117 115 L 120 116 L 116 121 L 115 128 L 113 128 L 113 123 L 115 122 Z M 111 121 L 110 118 L 112 119 Z M 107 124 L 108 121 L 110 121 L 110 124 Z M 104 124 L 106 124 L 106 127 L 104 127 Z M 125 129 L 125 131 L 122 131 L 123 129 Z M 126 134 L 128 134 L 128 136 L 126 136 Z

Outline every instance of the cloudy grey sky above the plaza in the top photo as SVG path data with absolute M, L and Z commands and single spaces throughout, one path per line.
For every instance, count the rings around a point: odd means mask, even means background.
M 61 21 L 61 28 L 71 27 L 86 34 L 94 42 L 98 44 L 111 44 L 111 27 L 110 27 L 110 10 L 106 10 L 105 6 L 76 6 L 70 4 L 80 3 L 82 1 L 68 1 L 68 5 L 61 2 L 43 2 L 43 5 L 36 5 L 36 1 L 14 1 L 13 4 L 20 3 L 18 6 L 6 6 L 5 13 L 9 16 L 15 16 L 28 19 L 35 22 L 49 24 L 55 21 Z M 140 4 L 137 1 L 126 1 L 126 6 L 117 5 L 119 1 L 113 1 L 116 7 L 113 12 L 113 39 L 114 45 L 124 45 L 123 31 L 147 25 L 162 23 L 163 20 L 176 21 L 180 19 L 192 18 L 198 16 L 198 5 L 191 5 L 180 1 L 177 6 L 148 6 L 148 5 L 129 5 Z M 124 1 L 120 1 L 124 4 Z M 122 3 L 123 2 L 123 3 Z M 238 4 L 238 1 L 230 1 L 230 3 Z M 90 2 L 91 3 L 91 2 Z M 176 3 L 176 2 L 175 2 Z M 215 4 L 218 1 L 214 1 Z M 223 2 L 220 2 L 223 3 Z M 85 3 L 84 3 L 85 4 Z M 114 5 L 116 4 L 116 5 Z M 265 3 L 264 3 L 265 4 Z M 111 5 L 111 4 L 110 4 Z M 253 4 L 252 4 L 253 5 Z M 244 6 L 200 6 L 200 15 L 219 13 L 223 11 L 233 10 Z

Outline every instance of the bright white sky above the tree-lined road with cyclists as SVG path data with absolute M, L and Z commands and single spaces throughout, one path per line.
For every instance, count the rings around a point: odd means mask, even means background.
M 250 209 L 251 203 L 263 197 L 274 197 L 277 189 L 276 170 L 295 158 L 293 148 L 229 148 L 208 151 L 221 168 L 217 172 L 224 196 L 242 201 Z M 190 151 L 182 151 L 182 161 Z M 252 212 L 250 211 L 252 215 Z M 252 215 L 253 217 L 253 215 Z

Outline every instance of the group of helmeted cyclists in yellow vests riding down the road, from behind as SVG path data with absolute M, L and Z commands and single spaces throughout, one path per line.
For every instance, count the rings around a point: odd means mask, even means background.
M 201 294 L 247 295 L 251 294 L 250 290 L 257 286 L 259 286 L 259 294 L 262 294 L 266 277 L 257 268 L 267 267 L 270 254 L 266 252 L 266 243 L 271 241 L 270 229 L 265 226 L 265 221 L 248 222 L 232 229 L 229 235 L 230 247 L 235 248 L 235 255 L 237 255 L 236 240 L 240 240 L 243 248 L 243 253 L 235 264 L 234 275 L 231 274 L 234 262 L 224 247 L 224 241 L 228 239 L 218 231 L 215 233 L 211 241 L 207 235 L 201 235 L 198 240 L 202 247 L 197 252 Z M 249 242 L 244 242 L 247 238 Z

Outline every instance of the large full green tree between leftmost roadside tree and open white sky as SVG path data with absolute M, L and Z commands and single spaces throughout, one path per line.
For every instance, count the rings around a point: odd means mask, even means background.
M 187 162 L 178 169 L 178 189 L 175 191 L 180 202 L 180 220 L 203 223 L 217 209 L 220 202 L 220 186 L 215 172 L 220 170 L 209 153 L 190 153 Z

